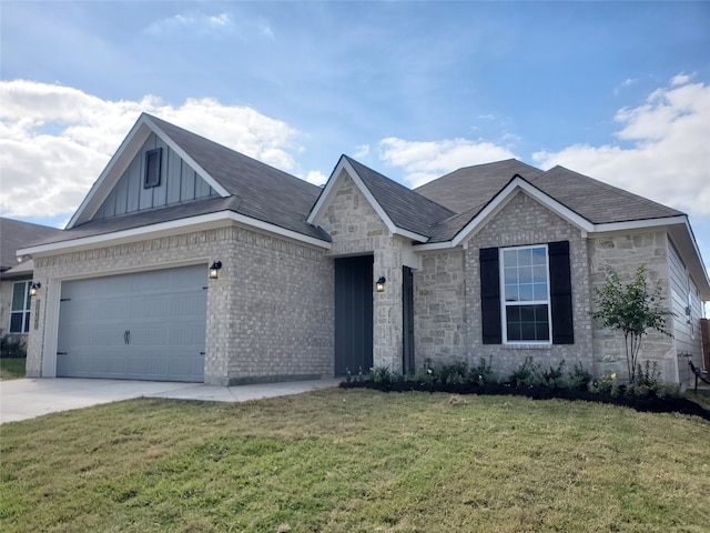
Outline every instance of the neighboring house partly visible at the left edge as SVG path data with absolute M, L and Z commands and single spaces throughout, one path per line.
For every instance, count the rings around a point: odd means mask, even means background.
M 30 331 L 33 261 L 18 258 L 17 250 L 59 233 L 55 228 L 0 218 L 0 335 L 24 344 Z

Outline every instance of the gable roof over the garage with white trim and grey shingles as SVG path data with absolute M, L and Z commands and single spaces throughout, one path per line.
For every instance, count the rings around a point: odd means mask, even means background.
M 173 149 L 222 198 L 195 200 L 106 220 L 92 220 L 151 132 Z M 275 231 L 284 230 L 296 238 L 304 235 L 311 241 L 327 243 L 329 235 L 306 222 L 308 211 L 320 193 L 321 188 L 304 180 L 143 113 L 93 184 L 67 230 L 43 240 L 41 244 L 109 235 L 223 210 L 235 213 L 236 219 L 247 223 L 253 219 L 254 225 L 273 227 Z

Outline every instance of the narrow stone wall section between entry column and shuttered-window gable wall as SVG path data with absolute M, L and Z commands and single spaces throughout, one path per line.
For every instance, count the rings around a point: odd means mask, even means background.
M 464 251 L 422 254 L 414 271 L 415 365 L 427 360 L 450 364 L 467 360 Z

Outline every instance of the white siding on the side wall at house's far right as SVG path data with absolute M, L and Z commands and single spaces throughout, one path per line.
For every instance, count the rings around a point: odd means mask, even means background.
M 670 241 L 668 244 L 668 265 L 670 269 L 670 309 L 674 313 L 672 320 L 676 352 L 677 354 L 692 354 L 693 363 L 699 366 L 702 364 L 702 334 L 700 331 L 702 302 L 700 292 Z M 678 373 L 680 382 L 687 384 L 690 372 L 684 358 L 678 361 Z

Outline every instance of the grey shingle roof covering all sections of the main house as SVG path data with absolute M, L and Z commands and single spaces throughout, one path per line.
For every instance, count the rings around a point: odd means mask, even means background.
M 232 195 L 91 221 L 48 235 L 36 244 L 108 234 L 225 210 L 329 241 L 325 231 L 307 222 L 321 188 L 161 119 L 145 117 Z M 429 238 L 427 242 L 446 242 L 456 237 L 515 175 L 592 223 L 683 214 L 562 167 L 545 172 L 508 159 L 458 169 L 412 190 L 347 155 L 343 158 L 392 222 Z M 28 240 L 20 243 L 27 244 Z

